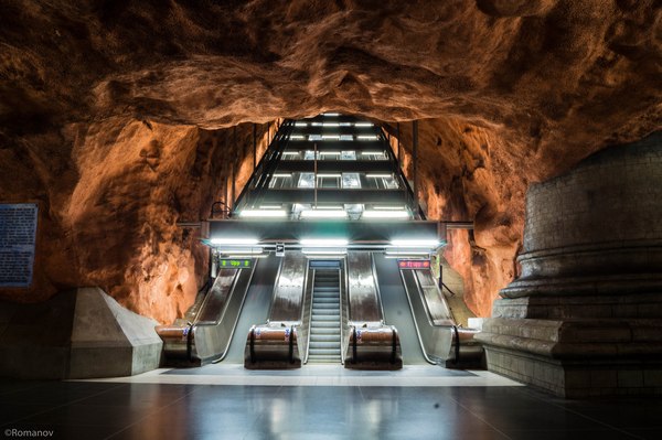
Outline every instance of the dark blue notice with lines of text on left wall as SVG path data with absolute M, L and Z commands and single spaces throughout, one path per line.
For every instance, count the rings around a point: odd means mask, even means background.
M 32 285 L 36 203 L 0 203 L 0 288 Z

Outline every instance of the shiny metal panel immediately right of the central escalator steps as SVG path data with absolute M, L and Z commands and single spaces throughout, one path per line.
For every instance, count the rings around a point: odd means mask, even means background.
M 370 253 L 348 254 L 348 277 L 350 321 L 381 322 L 383 316 Z

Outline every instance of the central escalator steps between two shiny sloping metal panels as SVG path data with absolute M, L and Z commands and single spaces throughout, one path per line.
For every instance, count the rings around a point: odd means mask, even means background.
M 316 269 L 313 276 L 308 362 L 340 364 L 340 272 Z

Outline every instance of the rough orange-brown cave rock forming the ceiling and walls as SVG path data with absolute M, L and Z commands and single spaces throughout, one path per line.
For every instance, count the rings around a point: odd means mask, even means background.
M 98 285 L 171 320 L 205 267 L 174 222 L 252 164 L 248 126 L 228 128 L 334 109 L 421 120 L 421 196 L 476 219 L 447 257 L 489 314 L 527 184 L 662 126 L 655 0 L 7 0 L 0 18 L 0 202 L 41 206 L 35 283 L 0 291 L 20 301 Z

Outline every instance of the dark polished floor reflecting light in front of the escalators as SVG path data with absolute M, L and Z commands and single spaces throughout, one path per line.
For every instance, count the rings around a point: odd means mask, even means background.
M 0 379 L 0 427 L 3 438 L 55 439 L 661 439 L 662 400 L 564 400 L 440 367 L 210 365 L 104 380 Z

